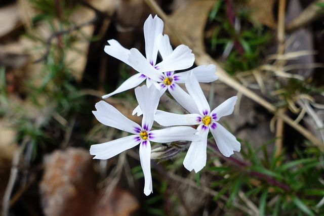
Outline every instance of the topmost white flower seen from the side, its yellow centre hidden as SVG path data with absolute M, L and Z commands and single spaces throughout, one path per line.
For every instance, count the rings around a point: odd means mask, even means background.
M 104 51 L 110 56 L 130 65 L 139 73 L 128 78 L 115 91 L 102 96 L 102 98 L 108 98 L 114 94 L 135 88 L 145 79 L 148 87 L 153 83 L 155 87 L 159 89 L 160 87 L 156 84 L 156 81 L 163 77 L 163 72 L 182 70 L 193 65 L 194 55 L 191 53 L 191 50 L 184 45 L 178 46 L 168 58 L 156 64 L 158 52 L 157 35 L 162 33 L 163 26 L 163 21 L 157 16 L 152 18 L 152 16 L 149 15 L 145 21 L 144 39 L 146 58 L 135 48 L 128 50 L 121 46 L 116 40 L 108 40 L 110 46 L 105 46 Z

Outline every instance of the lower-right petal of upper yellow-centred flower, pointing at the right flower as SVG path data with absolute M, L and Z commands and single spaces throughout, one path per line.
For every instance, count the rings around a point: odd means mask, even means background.
M 191 96 L 186 93 L 177 83 L 174 83 L 173 89 L 168 89 L 172 97 L 188 112 L 199 113 L 198 107 Z

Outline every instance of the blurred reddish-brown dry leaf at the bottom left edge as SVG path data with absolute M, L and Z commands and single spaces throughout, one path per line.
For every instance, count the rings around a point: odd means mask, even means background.
M 96 189 L 94 161 L 81 148 L 56 150 L 45 157 L 40 184 L 45 215 L 124 216 L 138 208 L 137 200 L 118 186 L 101 202 L 104 192 Z

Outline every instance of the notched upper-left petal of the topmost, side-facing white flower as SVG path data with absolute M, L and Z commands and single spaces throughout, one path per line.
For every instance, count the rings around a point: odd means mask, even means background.
M 121 46 L 119 42 L 114 39 L 108 40 L 108 43 L 110 46 L 105 46 L 104 51 L 108 55 L 115 57 L 116 59 L 119 59 L 120 61 L 123 61 L 129 65 L 128 56 L 131 53 L 130 50 Z

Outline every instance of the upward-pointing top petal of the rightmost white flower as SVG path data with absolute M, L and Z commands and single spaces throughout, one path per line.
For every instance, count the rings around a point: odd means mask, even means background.
M 207 115 L 210 113 L 209 104 L 205 98 L 203 90 L 201 90 L 199 82 L 197 81 L 194 73 L 188 72 L 186 79 L 186 89 L 198 107 L 199 113 L 201 115 Z

